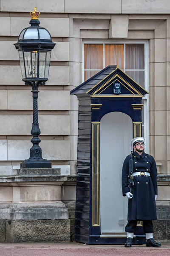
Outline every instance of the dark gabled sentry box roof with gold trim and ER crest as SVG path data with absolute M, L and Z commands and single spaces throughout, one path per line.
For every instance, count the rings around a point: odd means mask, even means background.
M 119 84 L 122 85 L 121 90 Z M 116 90 L 117 89 L 117 90 Z M 136 81 L 130 78 L 125 72 L 119 69 L 119 66 L 112 65 L 99 71 L 96 75 L 84 83 L 71 90 L 71 94 L 91 96 L 115 95 L 123 96 L 144 96 L 147 90 L 144 90 Z M 119 95 L 120 94 L 120 95 Z

